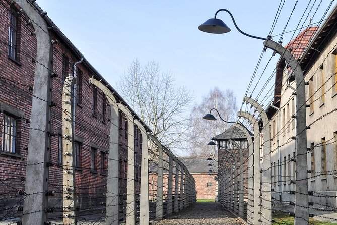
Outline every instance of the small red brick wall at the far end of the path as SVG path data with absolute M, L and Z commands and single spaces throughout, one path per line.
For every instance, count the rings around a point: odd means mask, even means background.
M 208 175 L 207 173 L 193 174 L 195 180 L 196 199 L 215 199 L 217 181 L 214 180 L 216 174 Z M 207 183 L 212 183 L 213 186 L 207 187 Z

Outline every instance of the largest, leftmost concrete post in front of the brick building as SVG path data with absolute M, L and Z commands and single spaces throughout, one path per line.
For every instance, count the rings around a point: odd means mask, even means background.
M 25 182 L 25 200 L 23 207 L 23 224 L 44 224 L 47 222 L 48 197 L 45 191 L 49 188 L 49 168 L 46 163 L 50 160 L 50 107 L 52 79 L 53 49 L 47 24 L 40 14 L 26 0 L 15 0 L 32 19 L 36 34 L 36 61 L 32 111 L 27 155 Z M 41 100 L 43 99 L 43 101 Z

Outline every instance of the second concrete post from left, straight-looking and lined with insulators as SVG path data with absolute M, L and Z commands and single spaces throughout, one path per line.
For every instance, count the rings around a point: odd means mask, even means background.
M 73 126 L 72 126 L 72 97 L 71 90 L 74 85 L 74 77 L 65 78 L 62 90 L 62 180 L 63 180 L 63 224 L 77 224 L 75 214 L 75 170 L 73 164 Z

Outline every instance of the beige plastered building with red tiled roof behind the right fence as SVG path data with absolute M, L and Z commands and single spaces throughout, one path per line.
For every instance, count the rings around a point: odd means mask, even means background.
M 274 102 L 267 114 L 273 150 L 272 195 L 279 203 L 294 201 L 290 191 L 296 182 L 296 111 L 306 107 L 308 188 L 313 192 L 309 202 L 315 207 L 337 206 L 336 15 L 335 7 L 320 27 L 306 28 L 286 46 L 304 73 L 306 105 L 296 105 L 296 84 L 284 59 L 277 64 Z

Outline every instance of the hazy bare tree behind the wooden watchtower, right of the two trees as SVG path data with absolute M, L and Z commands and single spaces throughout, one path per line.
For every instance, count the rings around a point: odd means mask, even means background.
M 214 87 L 210 92 L 203 97 L 200 104 L 195 104 L 190 113 L 191 132 L 191 155 L 214 155 L 217 152 L 215 146 L 207 145 L 210 138 L 224 132 L 229 128 L 230 124 L 219 119 L 216 111 L 212 114 L 217 118 L 217 121 L 208 121 L 202 119 L 203 116 L 210 113 L 212 108 L 218 109 L 221 118 L 226 121 L 234 121 L 236 119 L 237 106 L 236 98 L 233 91 L 221 91 L 218 87 Z

